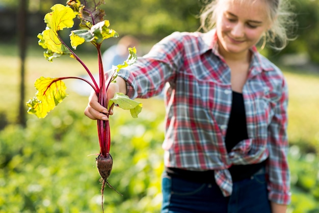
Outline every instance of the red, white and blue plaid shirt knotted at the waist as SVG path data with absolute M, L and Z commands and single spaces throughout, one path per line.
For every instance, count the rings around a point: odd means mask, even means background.
M 232 193 L 232 165 L 267 161 L 269 199 L 288 204 L 287 87 L 282 72 L 256 47 L 243 88 L 249 139 L 227 153 L 225 136 L 232 104 L 230 69 L 218 52 L 216 31 L 173 33 L 137 63 L 118 73 L 131 98 L 165 88 L 165 166 L 215 170 L 224 196 Z

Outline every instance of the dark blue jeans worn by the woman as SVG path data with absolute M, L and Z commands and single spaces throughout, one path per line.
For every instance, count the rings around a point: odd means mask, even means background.
M 233 183 L 230 197 L 218 185 L 163 174 L 162 213 L 271 213 L 264 174 Z

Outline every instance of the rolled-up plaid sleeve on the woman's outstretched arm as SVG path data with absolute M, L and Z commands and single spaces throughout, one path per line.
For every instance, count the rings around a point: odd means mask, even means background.
M 167 82 L 173 82 L 183 63 L 181 33 L 173 33 L 155 44 L 149 53 L 118 72 L 127 82 L 130 98 L 149 98 L 163 91 Z

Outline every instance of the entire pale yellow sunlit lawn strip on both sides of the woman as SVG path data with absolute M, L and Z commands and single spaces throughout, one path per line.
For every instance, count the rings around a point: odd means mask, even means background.
M 7 52 L 7 50 L 9 50 Z M 26 100 L 35 94 L 34 82 L 40 76 L 57 77 L 86 74 L 84 68 L 74 59 L 61 57 L 53 63 L 46 61 L 41 47 L 28 49 L 26 58 Z M 10 121 L 15 121 L 18 112 L 19 100 L 19 70 L 20 61 L 15 46 L 0 44 L 0 112 L 5 112 Z M 95 55 L 81 53 L 79 56 L 88 65 L 90 70 L 97 70 Z M 283 68 L 289 87 L 288 105 L 288 135 L 292 144 L 301 145 L 306 151 L 319 151 L 319 74 L 309 73 L 307 70 L 291 70 Z M 97 72 L 97 71 L 96 71 Z M 73 81 L 73 82 L 72 82 Z M 76 80 L 67 80 L 70 88 Z M 81 96 L 68 89 L 69 97 L 58 107 L 71 107 L 84 110 L 87 96 Z M 141 100 L 144 109 L 164 113 L 163 102 L 158 99 Z M 31 115 L 28 115 L 31 116 Z

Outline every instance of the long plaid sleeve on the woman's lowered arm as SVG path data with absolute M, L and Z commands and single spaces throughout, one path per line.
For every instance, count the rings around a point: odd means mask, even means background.
M 278 91 L 274 116 L 268 128 L 269 150 L 269 199 L 278 204 L 290 203 L 290 173 L 287 162 L 287 102 L 286 82 L 282 81 Z

